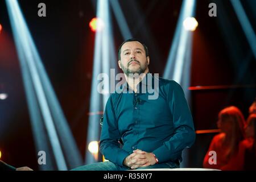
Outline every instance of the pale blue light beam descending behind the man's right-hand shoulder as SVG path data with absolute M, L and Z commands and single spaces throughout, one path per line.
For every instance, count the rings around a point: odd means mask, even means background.
M 195 16 L 196 0 L 184 0 L 181 5 L 179 19 L 172 41 L 170 53 L 164 69 L 164 78 L 175 80 L 184 89 L 185 96 L 190 101 L 190 92 L 187 89 L 190 85 L 191 53 L 192 53 L 192 32 L 185 30 L 183 21 L 185 18 Z M 181 167 L 187 167 L 188 150 L 184 150 Z

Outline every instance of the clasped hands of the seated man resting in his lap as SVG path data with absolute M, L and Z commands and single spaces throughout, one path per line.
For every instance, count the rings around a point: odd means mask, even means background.
M 152 166 L 156 163 L 154 154 L 148 153 L 142 150 L 134 150 L 133 154 L 130 154 L 125 158 L 123 164 L 131 169 L 137 169 L 139 167 Z

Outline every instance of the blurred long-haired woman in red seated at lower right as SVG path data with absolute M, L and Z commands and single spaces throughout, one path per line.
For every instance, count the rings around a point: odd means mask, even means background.
M 243 145 L 245 119 L 242 112 L 235 106 L 226 107 L 218 114 L 217 126 L 221 133 L 217 134 L 210 143 L 204 158 L 204 168 L 242 170 L 245 154 Z M 216 152 L 217 161 L 215 164 L 209 163 L 210 151 Z

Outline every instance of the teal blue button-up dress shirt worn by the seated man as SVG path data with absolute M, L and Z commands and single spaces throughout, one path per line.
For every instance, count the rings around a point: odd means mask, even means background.
M 159 163 L 175 162 L 181 161 L 183 149 L 195 142 L 191 111 L 181 86 L 151 73 L 143 80 L 149 78 L 152 84 L 141 81 L 137 93 L 122 85 L 120 89 L 127 92 L 111 94 L 106 103 L 100 151 L 120 169 L 126 168 L 123 160 L 136 149 L 154 153 Z M 152 92 L 149 89 L 142 92 L 142 88 L 154 88 L 155 81 L 158 81 L 158 98 L 150 100 Z

